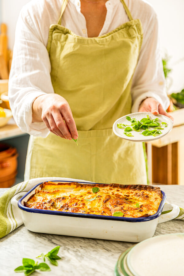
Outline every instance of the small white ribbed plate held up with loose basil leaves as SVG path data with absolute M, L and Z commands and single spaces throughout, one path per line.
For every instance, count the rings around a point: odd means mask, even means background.
M 151 120 L 159 118 L 158 122 L 161 124 L 162 122 L 167 123 L 167 127 L 163 127 L 164 129 L 160 129 L 160 131 L 162 132 L 162 134 L 159 134 L 158 136 L 144 136 L 141 135 L 140 133 L 142 133 L 144 130 L 141 128 L 140 131 L 131 131 L 133 137 L 128 137 L 124 134 L 124 129 L 123 128 L 118 128 L 117 124 L 125 124 L 125 125 L 131 125 L 132 123 L 130 121 L 128 121 L 126 119 L 127 116 L 129 116 L 131 119 L 136 118 L 136 120 L 140 121 L 142 118 L 146 118 L 147 115 L 149 115 L 149 118 Z M 145 142 L 145 141 L 153 141 L 156 139 L 159 139 L 163 136 L 165 136 L 167 133 L 169 133 L 171 131 L 173 127 L 173 122 L 172 120 L 164 115 L 153 115 L 152 113 L 149 112 L 137 112 L 137 113 L 131 113 L 131 114 L 127 114 L 119 119 L 117 119 L 114 124 L 113 124 L 113 132 L 114 134 L 116 134 L 118 137 L 123 138 L 125 140 L 130 140 L 133 142 Z M 153 130 L 154 128 L 149 127 L 150 130 Z

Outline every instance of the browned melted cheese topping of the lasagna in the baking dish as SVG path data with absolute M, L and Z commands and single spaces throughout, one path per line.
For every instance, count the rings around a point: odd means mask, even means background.
M 99 188 L 95 194 L 93 187 Z M 118 216 L 148 217 L 157 212 L 161 200 L 160 188 L 148 185 L 44 182 L 24 205 L 61 212 L 106 216 L 122 212 Z

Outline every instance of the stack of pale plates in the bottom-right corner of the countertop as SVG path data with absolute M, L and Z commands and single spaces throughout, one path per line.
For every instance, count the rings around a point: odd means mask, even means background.
M 155 236 L 119 257 L 115 276 L 183 276 L 184 233 Z

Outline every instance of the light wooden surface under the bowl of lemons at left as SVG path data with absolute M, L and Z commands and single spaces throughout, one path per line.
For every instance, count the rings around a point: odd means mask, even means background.
M 5 140 L 8 138 L 13 138 L 26 134 L 27 133 L 22 132 L 20 128 L 15 124 L 13 118 L 10 119 L 7 125 L 0 128 L 0 140 Z

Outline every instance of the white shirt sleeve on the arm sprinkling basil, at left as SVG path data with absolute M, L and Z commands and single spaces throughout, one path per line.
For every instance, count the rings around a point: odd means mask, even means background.
M 46 137 L 49 130 L 44 122 L 32 123 L 32 104 L 40 95 L 54 93 L 51 65 L 40 33 L 29 18 L 21 11 L 17 21 L 8 95 L 13 117 L 21 130 Z

